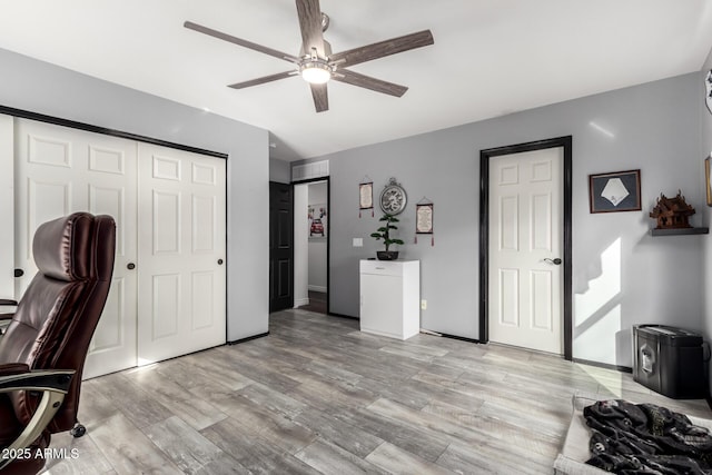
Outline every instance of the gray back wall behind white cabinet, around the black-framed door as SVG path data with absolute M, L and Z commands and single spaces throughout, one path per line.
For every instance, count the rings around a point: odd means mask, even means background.
M 358 260 L 379 245 L 376 217 L 358 219 L 358 184 L 374 195 L 396 177 L 408 194 L 403 258 L 421 259 L 422 327 L 478 338 L 479 150 L 573 136 L 574 357 L 631 366 L 639 323 L 700 328 L 702 243 L 653 238 L 655 198 L 682 189 L 704 209 L 700 182 L 700 75 L 691 73 L 520 113 L 315 158 L 330 161 L 330 310 L 358 316 Z M 425 111 L 423 113 L 426 113 Z M 590 174 L 640 168 L 642 211 L 591 215 Z M 435 246 L 414 244 L 415 204 L 435 204 Z M 693 217 L 700 225 L 701 214 Z M 352 247 L 363 237 L 364 247 Z

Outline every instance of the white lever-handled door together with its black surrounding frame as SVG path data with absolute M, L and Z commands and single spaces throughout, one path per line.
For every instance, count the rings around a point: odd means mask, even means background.
M 482 343 L 572 358 L 572 138 L 481 151 Z

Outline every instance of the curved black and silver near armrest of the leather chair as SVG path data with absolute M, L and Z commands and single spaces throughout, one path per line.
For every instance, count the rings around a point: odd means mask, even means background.
M 28 448 L 42 435 L 42 432 L 62 405 L 75 373 L 72 369 L 29 370 L 24 364 L 0 365 L 0 393 L 10 393 L 13 390 L 34 390 L 42 393 L 42 399 L 32 418 L 24 427 L 24 431 L 22 431 L 12 444 L 3 447 L 8 449 L 8 454 L 22 454 L 24 448 Z M 13 458 L 3 458 L 0 461 L 0 471 L 12 461 Z

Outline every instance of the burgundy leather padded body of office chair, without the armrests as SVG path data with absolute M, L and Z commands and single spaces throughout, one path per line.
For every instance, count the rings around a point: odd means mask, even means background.
M 39 270 L 0 338 L 0 362 L 77 372 L 48 427 L 51 433 L 68 431 L 77 422 L 81 373 L 109 293 L 115 248 L 116 224 L 110 216 L 75 212 L 44 222 L 34 234 L 32 253 Z M 39 397 L 30 392 L 10 397 L 18 419 L 27 423 Z

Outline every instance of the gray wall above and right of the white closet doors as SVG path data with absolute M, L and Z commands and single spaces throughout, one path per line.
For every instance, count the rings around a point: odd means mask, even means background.
M 0 105 L 228 154 L 228 340 L 268 329 L 268 132 L 0 49 Z

